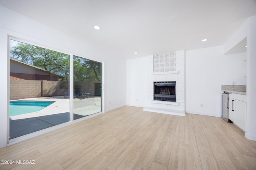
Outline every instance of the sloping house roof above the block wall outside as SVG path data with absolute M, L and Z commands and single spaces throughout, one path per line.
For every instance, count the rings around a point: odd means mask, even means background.
M 11 63 L 16 62 L 17 64 L 21 65 L 22 67 L 26 68 L 19 68 L 17 66 L 12 66 Z M 37 66 L 33 66 L 27 63 L 24 63 L 22 61 L 18 61 L 16 59 L 10 58 L 10 72 L 15 72 L 15 73 L 24 73 L 24 74 L 42 74 L 42 75 L 51 75 L 51 76 L 58 76 L 58 78 L 66 78 L 65 76 L 61 76 L 59 74 L 56 74 L 54 72 L 50 72 L 48 70 L 42 69 Z

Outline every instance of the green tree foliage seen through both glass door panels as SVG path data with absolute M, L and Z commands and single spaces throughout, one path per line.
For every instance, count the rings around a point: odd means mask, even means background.
M 16 42 L 16 45 L 10 50 L 10 56 L 12 56 L 11 58 L 66 77 L 59 79 L 60 81 L 69 80 L 69 55 L 34 45 L 20 43 L 18 41 Z M 75 82 L 100 80 L 101 63 L 74 56 Z

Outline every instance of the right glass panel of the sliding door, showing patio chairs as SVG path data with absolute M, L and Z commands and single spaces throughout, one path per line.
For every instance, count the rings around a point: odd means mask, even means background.
M 102 63 L 74 56 L 74 120 L 102 111 Z

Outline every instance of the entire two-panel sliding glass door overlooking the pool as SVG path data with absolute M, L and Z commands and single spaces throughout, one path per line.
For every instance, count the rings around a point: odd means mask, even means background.
M 16 38 L 9 47 L 11 142 L 102 111 L 102 63 Z

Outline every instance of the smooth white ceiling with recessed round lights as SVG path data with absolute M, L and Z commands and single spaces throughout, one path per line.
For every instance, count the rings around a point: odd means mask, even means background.
M 0 5 L 125 59 L 223 45 L 256 15 L 256 0 L 0 0 Z

